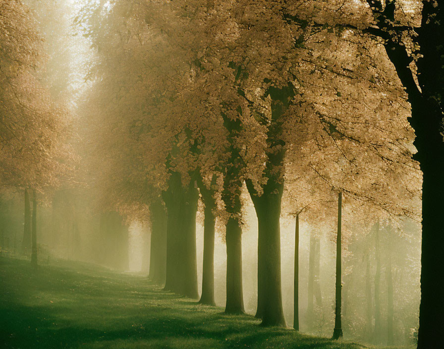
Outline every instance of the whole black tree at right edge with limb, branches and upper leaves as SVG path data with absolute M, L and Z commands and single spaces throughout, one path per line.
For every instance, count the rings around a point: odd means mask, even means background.
M 365 33 L 376 39 L 384 47 L 411 105 L 410 124 L 415 129 L 415 146 L 418 150 L 415 159 L 419 161 L 423 172 L 423 253 L 418 348 L 431 348 L 441 344 L 438 334 L 444 330 L 444 321 L 436 320 L 441 318 L 439 314 L 444 307 L 441 301 L 443 287 L 436 280 L 443 280 L 444 268 L 435 268 L 443 263 L 434 252 L 438 246 L 443 249 L 441 234 L 436 233 L 436 227 L 440 227 L 436 212 L 443 206 L 444 192 L 440 179 L 443 169 L 436 161 L 444 155 L 441 134 L 443 99 L 440 97 L 443 84 L 436 78 L 443 76 L 443 55 L 437 54 L 437 46 L 430 40 L 443 33 L 443 10 L 437 1 L 429 0 L 423 2 L 422 9 L 420 1 L 410 3 L 407 11 L 404 7 L 408 5 L 401 1 L 368 0 L 365 4 L 367 7 L 363 6 L 364 2 L 361 6 L 355 6 L 354 11 L 351 11 L 354 16 L 342 11 L 342 5 L 337 6 L 333 10 L 335 18 L 330 16 L 324 23 L 351 28 L 358 34 Z M 370 20 L 366 13 L 371 14 Z M 316 19 L 322 20 L 322 15 L 316 16 Z M 319 24 L 322 26 L 324 23 Z M 438 51 L 441 50 L 439 46 Z

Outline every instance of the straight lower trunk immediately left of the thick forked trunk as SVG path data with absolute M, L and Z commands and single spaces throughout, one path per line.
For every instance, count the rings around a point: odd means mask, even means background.
M 230 218 L 226 224 L 226 304 L 225 313 L 244 313 L 242 291 L 242 229 Z

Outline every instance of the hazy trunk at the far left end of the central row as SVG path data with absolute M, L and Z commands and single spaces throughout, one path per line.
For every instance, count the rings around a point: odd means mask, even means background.
M 165 283 L 166 274 L 166 211 L 160 198 L 150 205 L 151 243 L 148 277 L 157 284 Z

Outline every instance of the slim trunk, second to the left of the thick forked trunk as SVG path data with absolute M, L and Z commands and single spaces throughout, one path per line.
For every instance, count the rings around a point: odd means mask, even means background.
M 214 233 L 216 217 L 213 207 L 205 204 L 204 218 L 204 258 L 202 265 L 201 304 L 216 305 L 214 300 Z

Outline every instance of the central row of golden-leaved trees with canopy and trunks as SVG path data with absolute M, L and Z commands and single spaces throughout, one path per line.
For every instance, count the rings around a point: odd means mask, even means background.
M 368 8 L 347 10 L 361 20 L 367 14 L 360 27 L 372 26 Z M 350 25 L 320 25 L 314 19 L 327 13 L 315 12 L 304 3 L 269 1 L 114 1 L 94 10 L 89 4 L 78 18 L 97 48 L 95 88 L 84 115 L 96 137 L 99 156 L 91 163 L 100 169 L 95 177 L 104 205 L 126 215 L 149 208 L 152 276 L 163 281 L 165 270 L 166 289 L 197 298 L 200 194 L 201 302 L 214 303 L 220 219 L 227 248 L 225 311 L 241 313 L 245 183 L 259 224 L 256 316 L 264 325 L 285 325 L 283 197 L 322 223 L 332 221 L 328 206 L 338 192 L 368 217 L 419 216 L 414 135 L 389 59 L 372 36 Z M 339 238 L 338 320 L 340 251 Z M 336 327 L 338 337 L 339 322 Z

